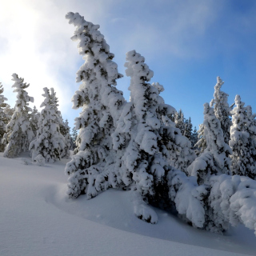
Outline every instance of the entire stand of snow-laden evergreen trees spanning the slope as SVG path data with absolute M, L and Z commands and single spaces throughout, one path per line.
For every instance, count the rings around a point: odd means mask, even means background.
M 67 194 L 88 199 L 109 188 L 130 190 L 134 214 L 150 223 L 152 206 L 178 214 L 190 225 L 222 234 L 243 223 L 256 234 L 256 114 L 240 95 L 228 104 L 217 78 L 214 98 L 203 106 L 199 130 L 182 110 L 165 103 L 164 87 L 135 50 L 126 54 L 130 101 L 117 89 L 118 65 L 94 25 L 78 13 L 72 40 L 85 60 L 77 72 L 74 128 L 64 122 L 53 88 L 44 88 L 42 110 L 32 110 L 26 88 L 13 74 L 17 101 L 6 103 L 0 84 L 0 151 L 6 158 L 30 152 L 39 166 L 70 158 Z

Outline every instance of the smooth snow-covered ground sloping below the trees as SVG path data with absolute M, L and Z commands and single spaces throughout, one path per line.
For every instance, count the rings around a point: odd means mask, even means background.
M 22 155 L 22 158 L 30 158 Z M 24 165 L 0 154 L 0 255 L 256 254 L 254 231 L 196 230 L 162 210 L 158 224 L 134 216 L 129 191 L 66 198 L 65 164 Z

